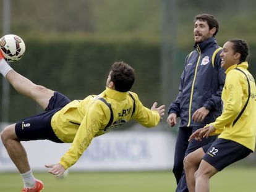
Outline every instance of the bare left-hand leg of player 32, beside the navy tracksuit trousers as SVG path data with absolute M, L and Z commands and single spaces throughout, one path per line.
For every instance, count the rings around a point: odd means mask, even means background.
M 198 169 L 198 166 L 202 160 L 203 155 L 205 152 L 202 148 L 197 149 L 194 152 L 191 152 L 184 158 L 184 170 L 186 175 L 186 183 L 187 188 L 190 192 L 195 191 L 195 178 L 194 174 Z

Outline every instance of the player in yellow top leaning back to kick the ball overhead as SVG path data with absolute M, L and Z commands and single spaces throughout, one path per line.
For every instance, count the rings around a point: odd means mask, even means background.
M 58 91 L 49 90 L 23 77 L 10 67 L 0 51 L 0 72 L 20 94 L 32 98 L 45 112 L 7 126 L 1 132 L 2 143 L 23 178 L 23 192 L 38 192 L 43 182 L 33 177 L 27 154 L 20 141 L 51 140 L 72 143 L 58 164 L 46 165 L 56 177 L 75 164 L 95 136 L 107 133 L 130 119 L 144 127 L 155 127 L 164 115 L 164 106 L 143 106 L 130 91 L 135 72 L 124 62 L 111 66 L 106 89 L 98 95 L 70 101 Z M 40 151 L 38 151 L 40 152 Z

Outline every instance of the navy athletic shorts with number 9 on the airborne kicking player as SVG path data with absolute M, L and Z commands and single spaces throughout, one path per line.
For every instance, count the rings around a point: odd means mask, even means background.
M 69 102 L 70 99 L 63 94 L 54 92 L 54 96 L 49 100 L 45 112 L 22 119 L 16 123 L 15 133 L 17 138 L 20 141 L 51 140 L 56 143 L 63 143 L 51 128 L 51 118 Z

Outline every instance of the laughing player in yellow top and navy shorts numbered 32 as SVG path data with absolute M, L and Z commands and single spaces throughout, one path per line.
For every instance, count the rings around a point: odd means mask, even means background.
M 218 139 L 184 159 L 189 191 L 209 191 L 209 180 L 230 164 L 244 159 L 255 148 L 256 87 L 246 62 L 249 47 L 244 40 L 229 40 L 221 52 L 221 67 L 226 70 L 221 99 L 223 112 L 215 122 L 195 131 L 189 141 L 209 135 Z

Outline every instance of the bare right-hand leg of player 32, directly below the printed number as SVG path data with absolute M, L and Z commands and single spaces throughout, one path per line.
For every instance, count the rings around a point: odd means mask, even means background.
M 218 170 L 202 159 L 197 171 L 195 172 L 195 191 L 208 192 L 210 178 L 218 173 Z

